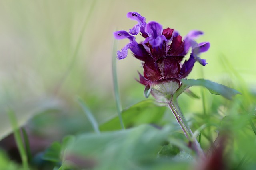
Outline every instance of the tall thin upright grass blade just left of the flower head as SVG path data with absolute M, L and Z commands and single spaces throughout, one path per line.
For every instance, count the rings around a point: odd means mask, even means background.
M 122 129 L 124 129 L 124 122 L 122 119 L 122 105 L 121 105 L 121 99 L 120 99 L 120 94 L 118 91 L 118 83 L 117 83 L 116 51 L 117 51 L 117 41 L 116 39 L 114 39 L 113 51 L 112 51 L 112 74 L 113 74 L 114 94 L 115 94 L 115 100 L 116 100 L 116 111 L 118 113 L 121 127 Z

